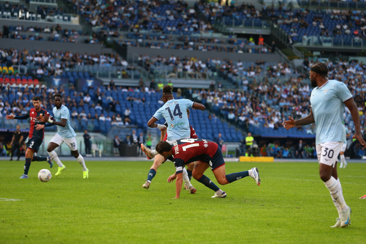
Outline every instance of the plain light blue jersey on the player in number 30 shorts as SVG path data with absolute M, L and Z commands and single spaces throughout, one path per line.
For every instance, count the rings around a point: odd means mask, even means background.
M 328 80 L 311 91 L 310 103 L 316 125 L 315 144 L 346 142 L 343 112 L 344 102 L 350 98 L 352 94 L 346 84 L 337 80 Z

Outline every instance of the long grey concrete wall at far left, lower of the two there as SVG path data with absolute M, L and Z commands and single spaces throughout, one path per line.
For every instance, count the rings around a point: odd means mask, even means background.
M 71 51 L 81 53 L 112 53 L 111 48 L 101 48 L 100 45 L 94 44 L 81 44 L 81 43 L 67 43 L 67 42 L 52 42 L 52 41 L 27 41 L 1 38 L 1 48 L 16 48 L 17 50 L 28 49 L 30 52 L 35 50 L 58 50 L 58 51 Z

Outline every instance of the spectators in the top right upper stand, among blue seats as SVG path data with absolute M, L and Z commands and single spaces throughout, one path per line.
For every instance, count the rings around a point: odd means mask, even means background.
M 307 43 L 311 35 L 321 37 L 353 38 L 354 42 L 366 39 L 366 11 L 361 9 L 309 9 L 292 10 L 286 6 L 268 8 L 264 15 L 279 24 L 293 41 Z

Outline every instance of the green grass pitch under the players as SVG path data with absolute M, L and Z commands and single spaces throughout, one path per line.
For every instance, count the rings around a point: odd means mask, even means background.
M 259 168 L 251 177 L 220 186 L 225 199 L 192 180 L 196 194 L 167 183 L 174 172 L 163 164 L 142 188 L 152 161 L 87 161 L 82 179 L 76 161 L 51 181 L 37 179 L 45 162 L 0 162 L 0 243 L 365 243 L 366 164 L 338 169 L 351 225 L 332 229 L 337 211 L 318 176 L 317 163 L 228 162 L 226 173 Z M 210 170 L 206 175 L 217 182 Z M 20 199 L 19 201 L 4 201 Z

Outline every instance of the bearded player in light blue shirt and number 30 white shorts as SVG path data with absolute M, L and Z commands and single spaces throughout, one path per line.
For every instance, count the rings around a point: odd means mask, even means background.
M 316 150 L 319 161 L 320 178 L 329 189 L 330 196 L 337 208 L 339 218 L 332 227 L 346 227 L 351 224 L 351 208 L 347 206 L 337 175 L 337 156 L 346 142 L 343 126 L 344 105 L 350 109 L 355 123 L 353 138 L 366 146 L 361 136 L 360 117 L 355 101 L 347 86 L 337 80 L 328 80 L 328 67 L 320 62 L 310 68 L 310 82 L 314 87 L 310 96 L 310 114 L 298 120 L 290 120 L 282 124 L 286 129 L 297 125 L 316 124 Z

